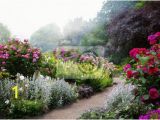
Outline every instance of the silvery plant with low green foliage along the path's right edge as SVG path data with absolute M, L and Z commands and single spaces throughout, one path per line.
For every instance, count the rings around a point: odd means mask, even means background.
M 137 119 L 152 108 L 134 100 L 132 85 L 120 84 L 107 96 L 104 108 L 91 109 L 81 115 L 81 119 Z

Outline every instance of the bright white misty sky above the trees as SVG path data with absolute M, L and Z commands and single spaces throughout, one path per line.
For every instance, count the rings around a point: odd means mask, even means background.
M 96 17 L 104 0 L 0 0 L 0 23 L 24 39 L 46 24 L 63 26 L 77 17 Z

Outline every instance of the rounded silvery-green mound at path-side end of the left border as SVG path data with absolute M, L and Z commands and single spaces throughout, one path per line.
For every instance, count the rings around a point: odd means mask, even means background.
M 51 87 L 51 108 L 70 104 L 77 99 L 76 86 L 71 86 L 64 80 L 57 80 Z

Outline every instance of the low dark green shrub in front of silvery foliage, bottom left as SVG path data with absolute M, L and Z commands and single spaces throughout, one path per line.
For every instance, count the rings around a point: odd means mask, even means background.
M 40 100 L 15 100 L 10 109 L 11 118 L 35 116 L 43 112 L 43 102 Z

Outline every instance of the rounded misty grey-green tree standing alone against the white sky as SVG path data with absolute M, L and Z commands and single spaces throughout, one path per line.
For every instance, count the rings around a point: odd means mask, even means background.
M 60 28 L 56 24 L 48 24 L 41 27 L 31 35 L 30 42 L 42 51 L 50 51 L 58 45 L 62 39 Z

